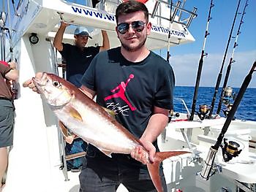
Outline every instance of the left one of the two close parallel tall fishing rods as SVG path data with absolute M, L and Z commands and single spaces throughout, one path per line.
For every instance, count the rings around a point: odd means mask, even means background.
M 214 111 L 214 104 L 215 104 L 216 96 L 217 96 L 217 93 L 218 93 L 218 90 L 219 90 L 219 84 L 220 84 L 220 81 L 222 80 L 222 71 L 223 71 L 223 67 L 224 67 L 224 64 L 225 64 L 225 59 L 226 59 L 226 56 L 227 56 L 227 50 L 228 50 L 228 47 L 230 45 L 230 39 L 232 37 L 233 28 L 234 28 L 234 25 L 236 23 L 236 16 L 238 15 L 238 9 L 239 9 L 239 6 L 240 6 L 240 2 L 241 2 L 241 0 L 238 1 L 238 5 L 236 7 L 236 14 L 235 14 L 235 17 L 233 19 L 232 27 L 230 29 L 230 36 L 228 37 L 228 40 L 227 40 L 227 47 L 226 47 L 225 54 L 224 54 L 224 57 L 223 57 L 223 60 L 222 60 L 222 66 L 221 66 L 221 69 L 219 70 L 219 74 L 218 74 L 218 77 L 217 77 L 217 82 L 216 82 L 215 89 L 214 89 L 214 96 L 212 97 L 212 100 L 211 100 L 211 109 L 210 109 L 208 118 L 211 118 L 211 115 Z

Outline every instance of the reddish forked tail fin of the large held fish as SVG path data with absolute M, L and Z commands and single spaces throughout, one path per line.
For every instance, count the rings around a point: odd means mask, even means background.
M 170 158 L 176 155 L 182 155 L 185 153 L 190 153 L 188 151 L 165 151 L 157 152 L 154 158 L 154 163 L 148 162 L 148 172 L 150 174 L 151 180 L 154 183 L 155 188 L 158 192 L 163 192 L 162 182 L 159 175 L 159 164 L 165 160 L 165 158 Z

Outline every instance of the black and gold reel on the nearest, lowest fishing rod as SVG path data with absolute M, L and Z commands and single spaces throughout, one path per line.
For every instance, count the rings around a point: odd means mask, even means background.
M 222 148 L 222 157 L 225 162 L 230 161 L 232 158 L 237 157 L 241 153 L 241 149 L 239 149 L 240 145 L 235 141 L 228 141 L 227 138 L 223 139 L 224 146 L 220 145 Z

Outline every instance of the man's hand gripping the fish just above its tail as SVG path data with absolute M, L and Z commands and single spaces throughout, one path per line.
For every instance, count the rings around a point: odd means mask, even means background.
M 148 161 L 154 162 L 156 147 L 154 147 L 154 145 L 149 141 L 140 139 L 140 142 L 143 144 L 143 146 L 138 145 L 135 147 L 135 150 L 132 150 L 132 158 L 135 158 L 137 161 L 140 161 L 143 164 L 147 164 Z

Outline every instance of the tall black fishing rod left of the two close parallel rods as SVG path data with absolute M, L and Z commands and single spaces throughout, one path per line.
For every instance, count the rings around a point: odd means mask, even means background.
M 192 103 L 192 111 L 191 111 L 191 115 L 189 117 L 189 120 L 194 119 L 195 104 L 197 102 L 197 93 L 198 93 L 200 77 L 201 77 L 202 68 L 203 68 L 203 57 L 207 55 L 207 53 L 205 53 L 205 47 L 206 47 L 206 38 L 210 34 L 208 32 L 208 26 L 209 26 L 209 23 L 210 23 L 210 20 L 211 20 L 211 9 L 212 9 L 212 7 L 214 7 L 214 4 L 213 4 L 213 1 L 211 0 L 211 4 L 210 4 L 210 7 L 209 7 L 209 12 L 208 12 L 207 24 L 206 24 L 205 39 L 203 40 L 203 49 L 202 49 L 202 52 L 201 52 L 201 57 L 200 57 L 200 61 L 199 61 L 199 64 L 198 64 L 198 69 L 197 69 L 197 80 L 196 80 L 196 83 L 195 83 L 195 91 L 194 91 L 194 97 L 193 97 L 193 103 Z

